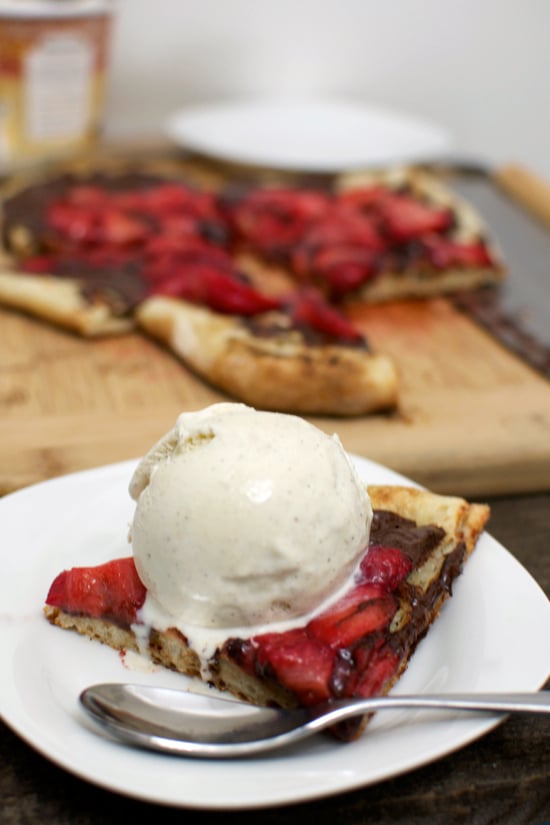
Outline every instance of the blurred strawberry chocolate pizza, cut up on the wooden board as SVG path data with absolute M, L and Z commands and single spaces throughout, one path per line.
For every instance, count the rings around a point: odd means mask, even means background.
M 137 325 L 236 398 L 304 414 L 395 406 L 349 302 L 503 275 L 470 207 L 417 170 L 214 189 L 163 163 L 52 167 L 6 184 L 2 238 L 0 303 L 86 337 Z

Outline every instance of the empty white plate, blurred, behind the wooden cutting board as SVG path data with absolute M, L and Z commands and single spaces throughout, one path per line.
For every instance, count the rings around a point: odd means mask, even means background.
M 349 101 L 237 100 L 173 114 L 169 137 L 234 163 L 302 172 L 437 159 L 451 139 L 440 126 Z

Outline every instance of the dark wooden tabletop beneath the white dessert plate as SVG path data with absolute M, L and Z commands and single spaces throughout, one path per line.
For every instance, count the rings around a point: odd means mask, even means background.
M 490 503 L 490 532 L 550 595 L 550 495 Z M 550 639 L 540 654 L 550 659 Z M 96 788 L 51 764 L 0 723 L 1 825 L 120 825 L 140 816 L 165 825 L 185 817 L 199 825 L 546 825 L 550 719 L 511 717 L 481 740 L 432 765 L 352 793 L 227 813 L 163 808 Z

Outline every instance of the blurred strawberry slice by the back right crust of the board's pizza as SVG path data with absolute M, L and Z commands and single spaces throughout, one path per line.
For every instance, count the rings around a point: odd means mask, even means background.
M 430 206 L 408 195 L 389 195 L 379 211 L 387 233 L 400 243 L 428 232 L 444 232 L 453 222 L 450 209 Z

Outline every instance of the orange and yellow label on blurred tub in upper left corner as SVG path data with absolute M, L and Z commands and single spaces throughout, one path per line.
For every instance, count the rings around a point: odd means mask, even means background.
M 0 15 L 0 163 L 90 145 L 105 88 L 110 17 Z

